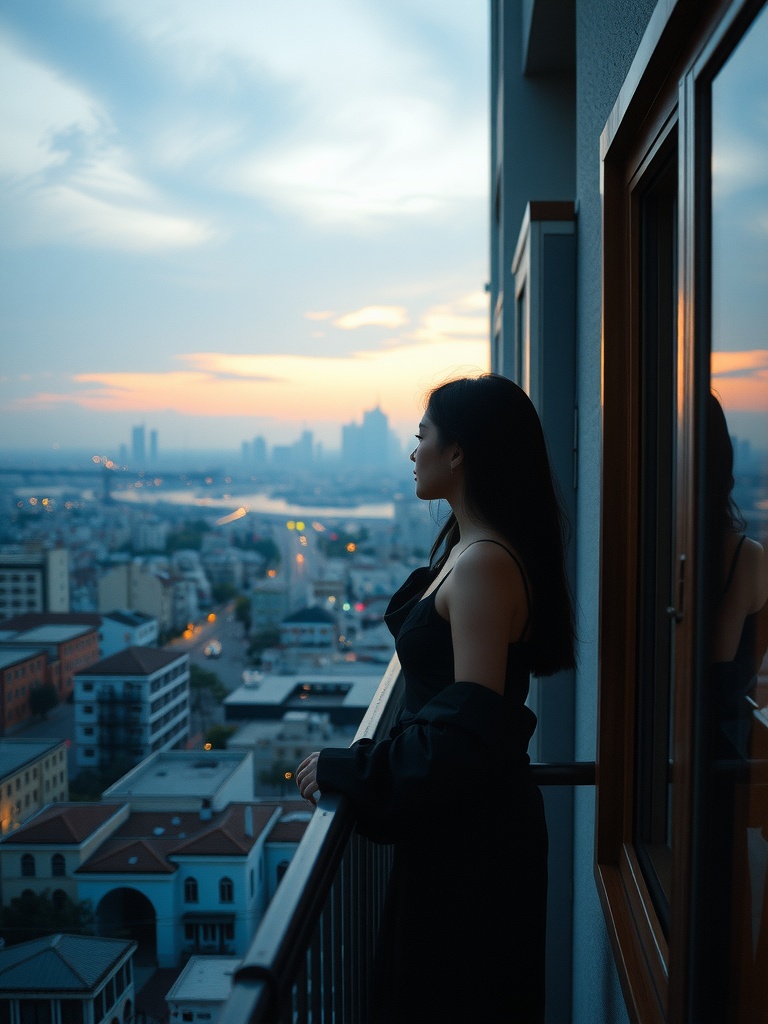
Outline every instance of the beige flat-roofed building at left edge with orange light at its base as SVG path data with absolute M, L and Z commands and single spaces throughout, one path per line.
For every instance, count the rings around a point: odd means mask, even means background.
M 0 739 L 0 835 L 69 798 L 63 739 Z

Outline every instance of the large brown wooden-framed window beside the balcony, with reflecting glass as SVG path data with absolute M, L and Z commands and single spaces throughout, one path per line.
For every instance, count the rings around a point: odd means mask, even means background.
M 764 168 L 731 169 L 764 145 L 768 7 L 665 18 L 602 139 L 597 878 L 631 1016 L 746 1024 L 768 974 L 768 692 L 754 644 L 741 689 L 718 681 L 736 665 L 715 653 L 731 611 L 722 539 L 736 541 L 715 526 L 710 411 L 714 391 L 739 530 L 765 544 L 767 261 L 751 225 L 768 187 Z

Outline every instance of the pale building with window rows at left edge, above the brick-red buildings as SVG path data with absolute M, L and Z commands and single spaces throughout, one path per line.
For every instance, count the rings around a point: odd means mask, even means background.
M 0 621 L 28 611 L 70 610 L 66 548 L 0 552 Z

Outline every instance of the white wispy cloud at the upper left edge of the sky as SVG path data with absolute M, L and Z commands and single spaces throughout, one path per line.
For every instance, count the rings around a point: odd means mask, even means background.
M 6 233 L 23 245 L 117 250 L 200 245 L 210 225 L 169 212 L 130 169 L 105 111 L 0 37 L 0 177 L 12 197 Z

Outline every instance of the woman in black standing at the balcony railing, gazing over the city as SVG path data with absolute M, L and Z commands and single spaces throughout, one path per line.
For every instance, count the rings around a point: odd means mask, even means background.
M 504 377 L 435 388 L 411 455 L 451 515 L 385 621 L 404 678 L 387 739 L 306 758 L 394 855 L 370 1021 L 544 1020 L 547 828 L 529 776 L 529 674 L 573 665 L 562 518 L 544 434 Z

